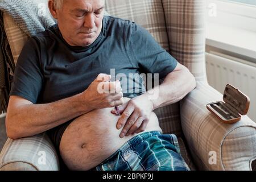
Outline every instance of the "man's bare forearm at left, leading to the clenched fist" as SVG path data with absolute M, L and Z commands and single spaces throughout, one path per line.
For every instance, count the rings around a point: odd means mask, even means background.
M 9 119 L 8 126 L 11 128 L 9 134 L 12 138 L 29 137 L 52 129 L 90 110 L 92 109 L 88 105 L 82 103 L 81 94 L 49 104 L 20 105 L 15 108 L 12 115 L 6 115 Z

